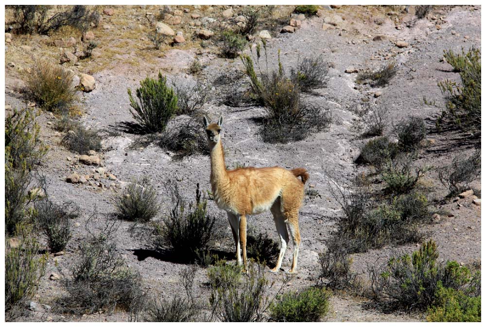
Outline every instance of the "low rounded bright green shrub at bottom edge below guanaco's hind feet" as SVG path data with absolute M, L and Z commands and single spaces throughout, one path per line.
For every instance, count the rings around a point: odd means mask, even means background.
M 277 322 L 317 322 L 329 311 L 330 292 L 311 287 L 277 296 L 270 305 L 270 319 Z

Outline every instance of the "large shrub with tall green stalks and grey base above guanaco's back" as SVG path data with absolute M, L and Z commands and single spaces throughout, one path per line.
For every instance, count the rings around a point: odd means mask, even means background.
M 266 43 L 263 42 L 266 55 Z M 257 58 L 260 58 L 260 44 Z M 300 88 L 285 75 L 278 55 L 278 71 L 262 72 L 257 76 L 253 60 L 242 56 L 245 73 L 250 79 L 250 93 L 254 101 L 265 107 L 267 116 L 263 120 L 261 133 L 266 142 L 288 142 L 301 140 L 313 131 L 320 131 L 330 125 L 330 111 L 304 102 Z

